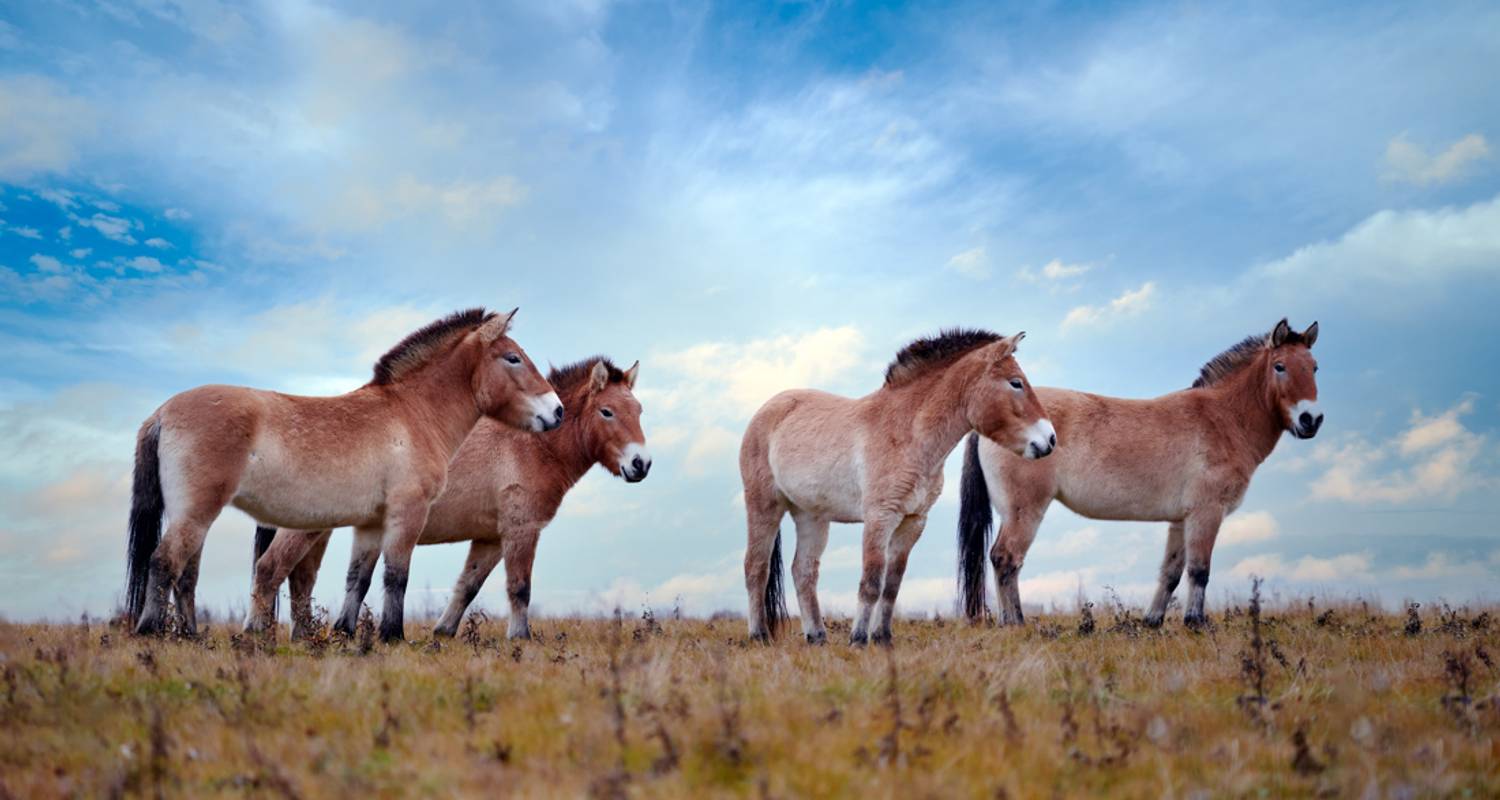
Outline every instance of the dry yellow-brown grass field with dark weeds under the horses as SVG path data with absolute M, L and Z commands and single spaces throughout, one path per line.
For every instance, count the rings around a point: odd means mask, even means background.
M 0 795 L 1500 795 L 1496 609 L 1252 608 L 890 650 L 650 614 L 396 647 L 0 624 Z

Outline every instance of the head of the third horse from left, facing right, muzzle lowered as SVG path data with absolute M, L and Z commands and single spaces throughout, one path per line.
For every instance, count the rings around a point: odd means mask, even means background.
M 1058 446 L 1058 432 L 1016 362 L 1016 344 L 1024 336 L 1008 336 L 969 356 L 981 360 L 969 392 L 969 426 L 1018 456 L 1046 458 Z

